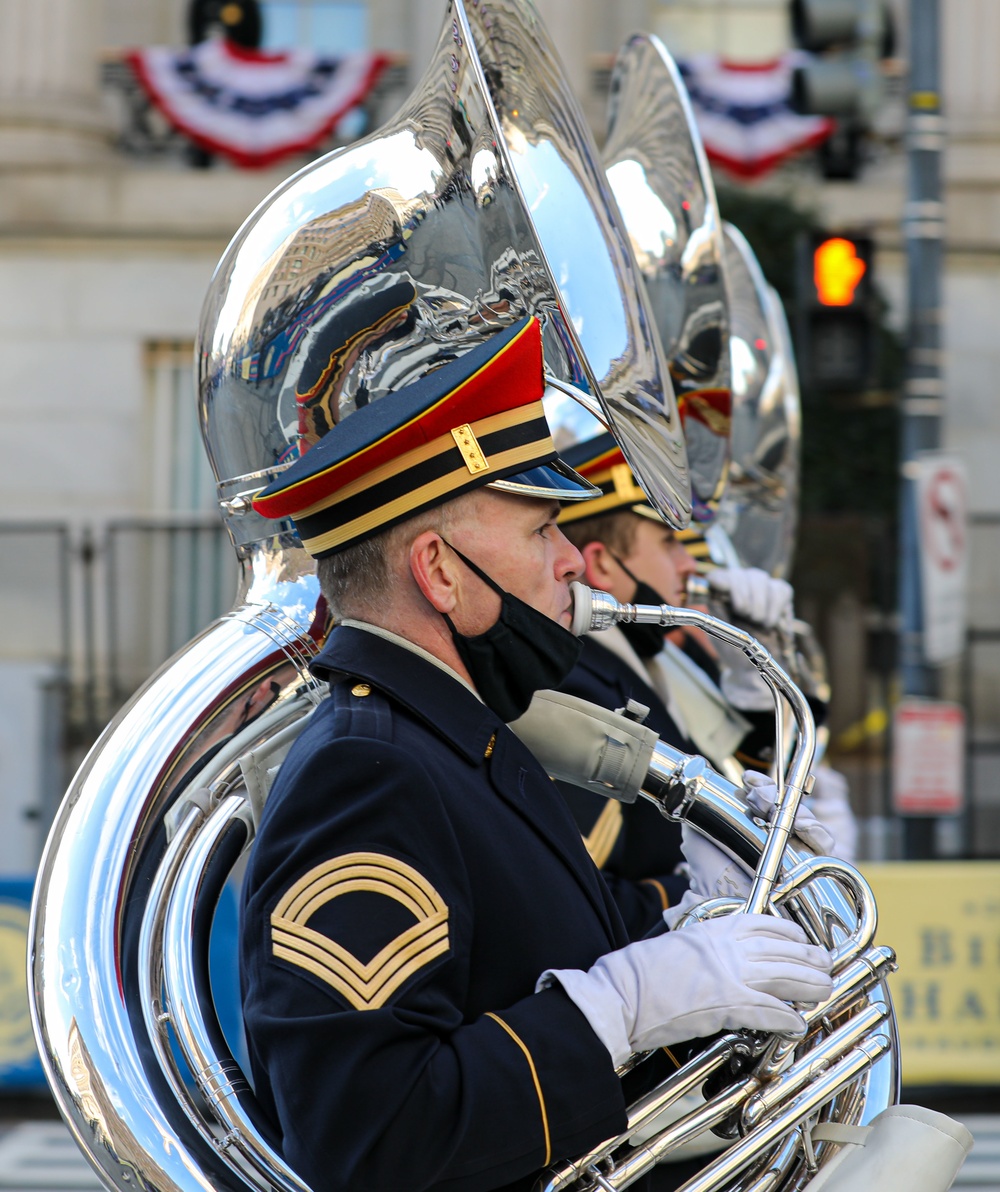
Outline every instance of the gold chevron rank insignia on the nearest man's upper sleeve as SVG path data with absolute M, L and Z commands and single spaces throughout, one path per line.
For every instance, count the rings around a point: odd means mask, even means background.
M 321 906 L 353 893 L 384 894 L 416 919 L 367 964 L 309 926 Z M 402 861 L 349 852 L 310 869 L 282 895 L 271 913 L 271 939 L 277 957 L 318 976 L 355 1010 L 377 1010 L 414 973 L 448 951 L 448 907 L 430 882 Z

